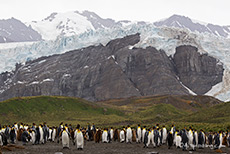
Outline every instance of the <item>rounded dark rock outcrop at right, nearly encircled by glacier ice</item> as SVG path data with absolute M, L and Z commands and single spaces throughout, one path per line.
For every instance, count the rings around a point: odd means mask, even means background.
M 201 55 L 196 47 L 177 47 L 173 61 L 180 80 L 197 94 L 205 94 L 222 81 L 222 64 L 207 54 Z

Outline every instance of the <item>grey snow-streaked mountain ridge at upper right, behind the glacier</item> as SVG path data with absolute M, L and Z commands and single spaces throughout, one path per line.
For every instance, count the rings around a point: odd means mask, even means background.
M 216 36 L 229 37 L 230 26 L 219 26 L 209 23 L 200 22 L 197 20 L 190 19 L 185 16 L 173 15 L 167 19 L 155 22 L 154 25 L 167 26 L 167 27 L 178 27 L 187 28 L 192 32 L 210 33 Z

